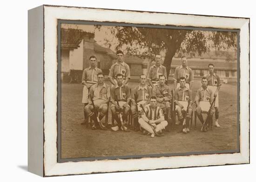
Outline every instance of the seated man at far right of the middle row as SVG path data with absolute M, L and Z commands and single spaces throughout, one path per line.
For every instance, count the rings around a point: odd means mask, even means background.
M 214 94 L 211 89 L 207 86 L 208 80 L 206 77 L 202 77 L 202 88 L 199 88 L 195 94 L 195 104 L 197 117 L 203 124 L 202 113 L 207 113 L 210 109 L 210 105 L 214 100 Z M 212 123 L 212 117 L 215 113 L 215 108 L 212 107 L 209 112 L 209 121 Z M 207 122 L 209 122 L 207 121 Z M 204 131 L 205 132 L 205 131 Z

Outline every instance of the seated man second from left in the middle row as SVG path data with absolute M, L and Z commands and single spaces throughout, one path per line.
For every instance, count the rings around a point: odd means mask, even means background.
M 123 75 L 117 74 L 116 75 L 116 81 L 117 84 L 115 87 L 111 88 L 111 96 L 110 101 L 112 103 L 111 105 L 111 113 L 112 117 L 115 118 L 117 122 L 117 126 L 112 127 L 111 129 L 113 131 L 117 131 L 119 129 L 128 131 L 127 127 L 123 126 L 123 123 L 121 121 L 127 119 L 127 116 L 130 112 L 130 101 L 131 101 L 131 93 L 128 86 L 124 85 L 123 82 Z M 118 103 L 117 103 L 118 101 Z M 117 112 L 121 112 L 121 114 L 117 114 Z

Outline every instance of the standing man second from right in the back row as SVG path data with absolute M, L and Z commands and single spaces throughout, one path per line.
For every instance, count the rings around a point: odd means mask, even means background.
M 187 57 L 182 56 L 182 65 L 176 67 L 174 71 L 174 89 L 180 87 L 179 79 L 180 77 L 185 77 L 186 79 L 186 87 L 192 90 L 192 82 L 194 82 L 194 74 L 192 69 L 187 66 Z

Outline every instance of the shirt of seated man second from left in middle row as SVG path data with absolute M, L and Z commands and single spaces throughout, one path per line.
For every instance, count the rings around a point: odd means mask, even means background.
M 119 87 L 118 85 L 112 87 L 110 89 L 110 92 L 110 101 L 115 101 L 116 97 L 118 101 L 131 100 L 130 89 L 124 84 L 121 87 Z

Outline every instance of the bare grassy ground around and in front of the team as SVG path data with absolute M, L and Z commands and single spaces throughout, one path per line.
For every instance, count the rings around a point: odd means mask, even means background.
M 134 88 L 138 83 L 130 82 Z M 195 90 L 201 87 L 194 82 Z M 173 129 L 163 137 L 150 138 L 141 132 L 93 131 L 81 125 L 83 105 L 81 84 L 61 85 L 61 158 L 106 157 L 167 154 L 183 152 L 213 152 L 237 150 L 237 85 L 223 84 L 219 93 L 220 128 L 200 132 L 201 123 L 188 134 Z M 109 121 L 111 114 L 109 111 Z M 215 123 L 215 119 L 214 119 Z M 194 121 L 193 121 L 194 125 Z

